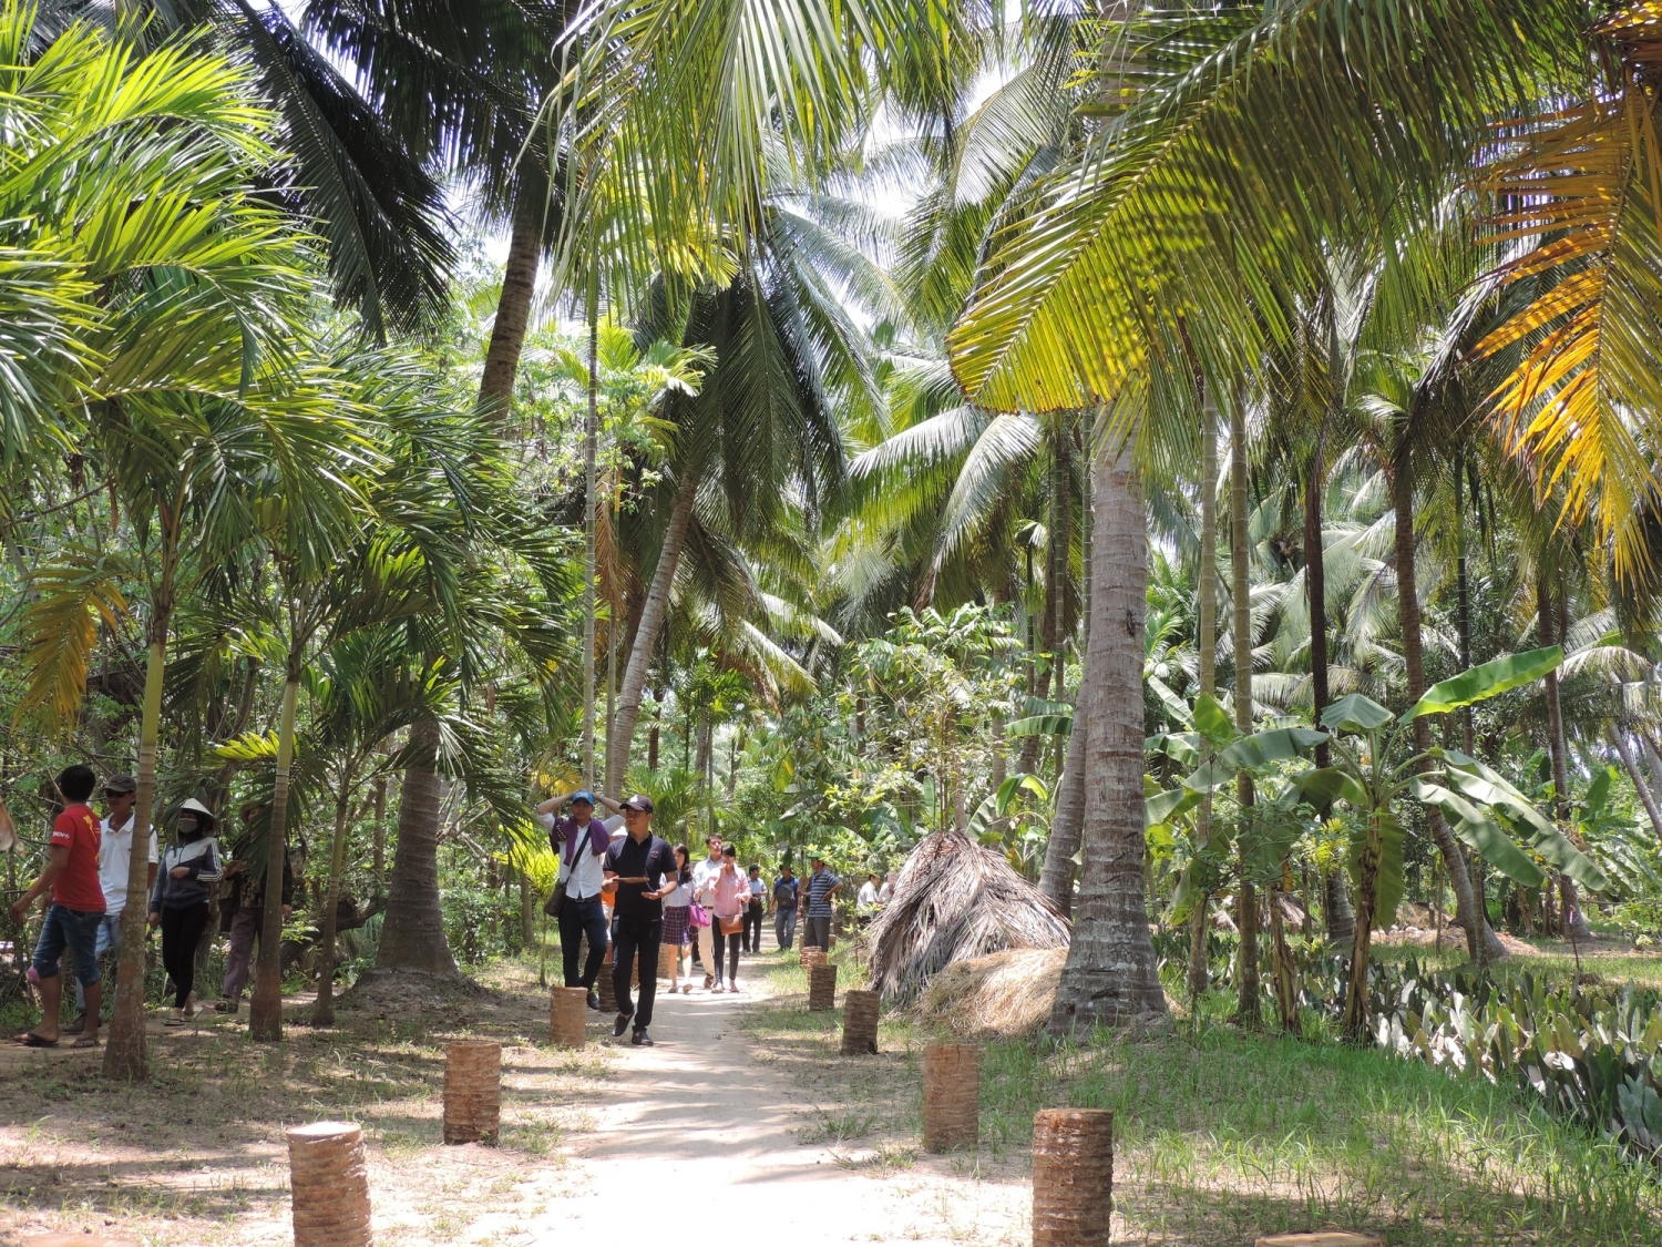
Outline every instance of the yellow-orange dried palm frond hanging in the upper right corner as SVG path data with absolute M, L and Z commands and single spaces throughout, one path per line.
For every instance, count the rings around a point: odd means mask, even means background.
M 1596 30 L 1609 90 L 1512 128 L 1483 180 L 1501 205 L 1497 241 L 1534 243 L 1497 276 L 1537 291 L 1476 352 L 1522 347 L 1491 396 L 1506 446 L 1537 497 L 1562 489 L 1564 517 L 1591 517 L 1634 580 L 1654 570 L 1647 519 L 1662 507 L 1662 2 Z

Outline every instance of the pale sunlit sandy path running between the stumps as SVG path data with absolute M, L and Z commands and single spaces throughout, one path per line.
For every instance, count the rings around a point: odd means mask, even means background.
M 755 983 L 755 981 L 753 981 Z M 472 1242 L 524 1247 L 643 1240 L 665 1247 L 784 1242 L 1025 1244 L 1025 1182 L 962 1161 L 894 1174 L 804 1146 L 811 1106 L 740 1029 L 753 996 L 660 996 L 655 1047 L 627 1039 L 597 1091 L 595 1129 L 568 1162 L 515 1189 L 519 1207 L 469 1225 Z

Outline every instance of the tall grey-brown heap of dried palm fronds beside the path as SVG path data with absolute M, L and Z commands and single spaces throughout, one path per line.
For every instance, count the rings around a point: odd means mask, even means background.
M 931 976 L 1007 948 L 1067 948 L 1072 926 L 1002 855 L 961 831 L 926 836 L 873 919 L 871 986 L 909 999 Z

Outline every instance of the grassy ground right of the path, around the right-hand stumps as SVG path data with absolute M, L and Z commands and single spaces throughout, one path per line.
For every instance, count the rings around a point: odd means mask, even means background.
M 921 1052 L 934 1036 L 886 1014 L 881 1056 L 841 1057 L 839 1014 L 806 1011 L 794 961 L 776 961 L 771 978 L 776 994 L 750 1026 L 803 1081 L 804 1142 L 851 1169 L 911 1164 Z M 1220 1019 L 1223 994 L 1212 996 L 1165 1034 L 986 1042 L 981 1147 L 946 1162 L 1020 1180 L 1037 1109 L 1105 1107 L 1115 1209 L 1132 1242 L 1237 1247 L 1260 1234 L 1368 1229 L 1391 1247 L 1662 1245 L 1655 1171 L 1516 1087 L 1378 1049 L 1243 1033 Z

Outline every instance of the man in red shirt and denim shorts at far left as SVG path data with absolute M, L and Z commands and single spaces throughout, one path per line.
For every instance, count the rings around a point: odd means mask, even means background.
M 103 923 L 103 888 L 98 883 L 98 815 L 86 805 L 98 785 L 91 766 L 66 766 L 58 775 L 58 795 L 68 801 L 52 825 L 52 860 L 28 891 L 12 906 L 12 921 L 22 923 L 28 906 L 48 888 L 52 908 L 35 944 L 32 978 L 40 983 L 40 1026 L 20 1034 L 25 1047 L 58 1046 L 58 1008 L 63 1004 L 63 978 L 58 959 L 70 949 L 75 978 L 86 993 L 86 1031 L 76 1047 L 96 1047 L 98 1006 L 103 1004 L 103 981 L 98 973 L 98 928 Z

